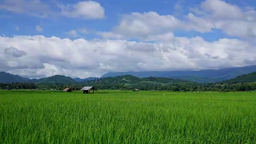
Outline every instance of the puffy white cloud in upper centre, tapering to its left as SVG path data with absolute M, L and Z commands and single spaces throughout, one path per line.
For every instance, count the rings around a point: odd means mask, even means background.
M 103 38 L 138 38 L 148 40 L 149 37 L 170 33 L 180 29 L 183 24 L 171 15 L 161 16 L 156 12 L 124 15 L 113 32 L 98 32 Z

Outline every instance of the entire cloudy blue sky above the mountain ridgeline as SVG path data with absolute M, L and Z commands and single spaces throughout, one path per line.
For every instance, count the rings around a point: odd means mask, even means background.
M 255 0 L 0 0 L 0 71 L 28 78 L 256 64 Z

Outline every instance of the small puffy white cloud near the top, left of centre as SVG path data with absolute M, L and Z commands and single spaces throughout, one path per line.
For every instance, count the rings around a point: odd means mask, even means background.
M 104 18 L 104 8 L 98 2 L 83 1 L 74 5 L 58 5 L 63 16 L 71 18 Z

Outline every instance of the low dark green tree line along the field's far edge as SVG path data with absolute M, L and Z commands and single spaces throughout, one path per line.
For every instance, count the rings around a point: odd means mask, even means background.
M 165 86 L 162 84 L 130 84 L 116 83 L 116 84 L 35 84 L 26 82 L 14 82 L 10 84 L 0 83 L 0 89 L 39 89 L 39 90 L 63 90 L 64 88 L 70 88 L 71 90 L 80 90 L 84 86 L 94 86 L 98 90 L 133 90 L 137 88 L 139 90 L 160 90 L 160 91 L 220 91 L 220 92 L 236 92 L 236 91 L 251 91 L 256 90 L 255 82 L 247 82 L 240 84 L 224 84 L 224 85 L 193 85 L 189 83 L 174 84 L 171 86 Z

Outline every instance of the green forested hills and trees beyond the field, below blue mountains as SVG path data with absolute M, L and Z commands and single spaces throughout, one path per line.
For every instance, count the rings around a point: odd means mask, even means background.
M 252 74 L 253 75 L 253 74 Z M 71 79 L 71 80 L 70 80 Z M 16 82 L 11 84 L 0 83 L 1 89 L 40 89 L 40 90 L 63 90 L 70 88 L 71 90 L 80 90 L 84 86 L 94 86 L 98 90 L 167 90 L 167 91 L 247 91 L 256 90 L 255 82 L 247 82 L 242 84 L 198 84 L 196 82 L 189 82 L 186 80 L 177 80 L 172 78 L 138 78 L 131 75 L 115 76 L 100 78 L 85 82 L 74 82 L 70 77 L 52 76 L 50 78 L 43 78 L 41 82 L 26 83 Z M 60 82 L 60 83 L 58 83 Z M 8 87 L 7 87 L 8 86 Z

